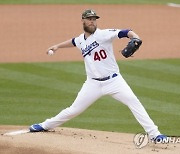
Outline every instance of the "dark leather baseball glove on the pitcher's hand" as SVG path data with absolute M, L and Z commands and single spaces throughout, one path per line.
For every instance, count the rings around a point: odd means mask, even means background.
M 126 58 L 132 56 L 141 46 L 142 41 L 138 38 L 132 38 L 128 45 L 121 51 L 122 55 Z

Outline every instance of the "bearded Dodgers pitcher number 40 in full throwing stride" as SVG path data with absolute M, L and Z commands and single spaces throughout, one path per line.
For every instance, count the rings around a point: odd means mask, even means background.
M 81 114 L 100 97 L 111 95 L 128 106 L 150 139 L 154 141 L 165 139 L 166 136 L 159 132 L 158 127 L 121 76 L 113 53 L 112 42 L 116 38 L 130 39 L 127 47 L 122 50 L 122 55 L 126 58 L 134 54 L 142 41 L 130 29 L 98 29 L 99 18 L 94 10 L 85 10 L 82 13 L 84 33 L 48 49 L 47 54 L 52 55 L 59 48 L 77 47 L 84 58 L 87 79 L 70 107 L 55 117 L 30 126 L 30 132 L 47 131 L 60 126 Z

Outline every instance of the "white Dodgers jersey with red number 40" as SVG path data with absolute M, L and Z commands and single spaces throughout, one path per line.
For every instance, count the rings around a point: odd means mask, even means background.
M 88 77 L 103 78 L 119 73 L 112 46 L 112 41 L 118 38 L 119 32 L 119 29 L 97 29 L 87 39 L 84 34 L 74 39 L 84 57 Z

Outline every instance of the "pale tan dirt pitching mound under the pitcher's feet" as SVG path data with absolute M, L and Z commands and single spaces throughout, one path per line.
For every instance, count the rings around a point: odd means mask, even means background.
M 25 126 L 0 126 L 0 153 L 5 154 L 171 154 L 180 144 L 148 144 L 137 149 L 134 134 L 59 127 L 51 132 L 6 136 L 7 132 L 27 129 Z

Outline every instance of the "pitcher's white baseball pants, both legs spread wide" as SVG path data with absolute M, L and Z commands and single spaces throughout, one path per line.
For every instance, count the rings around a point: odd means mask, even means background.
M 151 120 L 140 101 L 120 74 L 106 81 L 87 78 L 73 104 L 62 110 L 55 117 L 45 120 L 41 123 L 42 127 L 48 130 L 62 125 L 85 111 L 103 95 L 111 95 L 116 100 L 127 105 L 150 138 L 160 134 L 158 127 Z

